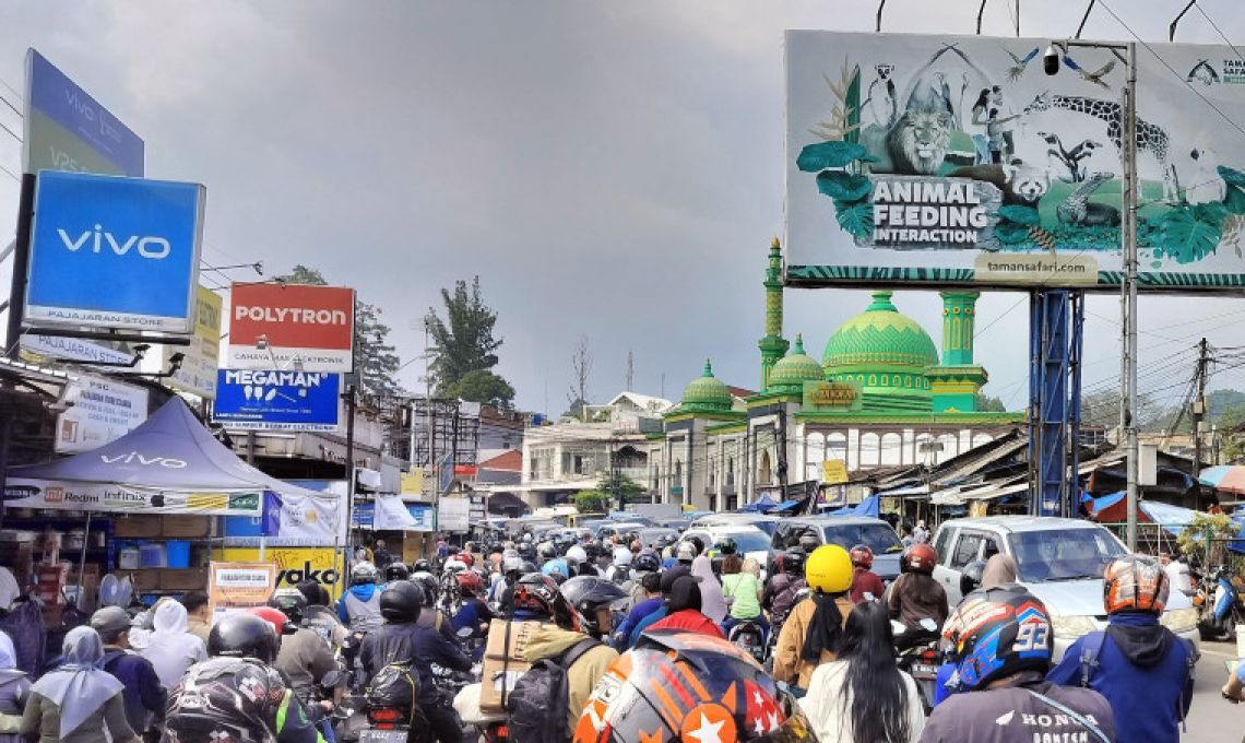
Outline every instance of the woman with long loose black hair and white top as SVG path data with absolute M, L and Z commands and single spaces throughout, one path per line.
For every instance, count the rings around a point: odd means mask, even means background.
M 822 743 L 913 743 L 925 711 L 913 677 L 895 666 L 890 617 L 867 601 L 848 615 L 838 658 L 813 671 L 799 701 Z

